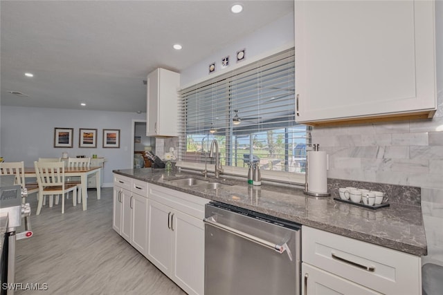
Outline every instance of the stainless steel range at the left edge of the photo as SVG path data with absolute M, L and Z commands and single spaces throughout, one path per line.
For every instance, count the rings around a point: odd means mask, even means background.
M 30 206 L 22 204 L 22 198 L 27 196 L 26 189 L 14 185 L 15 175 L 0 176 L 0 294 L 14 294 L 15 289 L 15 242 L 17 239 L 30 238 L 33 231 L 30 229 Z M 24 219 L 25 230 L 17 233 Z M 4 283 L 7 283 L 5 285 Z

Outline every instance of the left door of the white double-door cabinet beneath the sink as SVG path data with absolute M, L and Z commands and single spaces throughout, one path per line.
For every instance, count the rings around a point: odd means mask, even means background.
M 171 276 L 172 260 L 172 231 L 170 218 L 172 209 L 154 200 L 147 200 L 148 205 L 148 234 L 147 258 L 161 272 Z

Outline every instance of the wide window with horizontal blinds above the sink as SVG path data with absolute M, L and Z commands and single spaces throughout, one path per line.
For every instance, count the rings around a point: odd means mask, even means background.
M 307 128 L 295 122 L 294 75 L 291 48 L 183 89 L 179 158 L 204 163 L 215 139 L 224 166 L 304 173 Z

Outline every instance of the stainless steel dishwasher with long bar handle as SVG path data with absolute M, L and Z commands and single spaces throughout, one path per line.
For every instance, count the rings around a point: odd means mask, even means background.
M 221 202 L 204 222 L 205 294 L 300 294 L 300 225 Z

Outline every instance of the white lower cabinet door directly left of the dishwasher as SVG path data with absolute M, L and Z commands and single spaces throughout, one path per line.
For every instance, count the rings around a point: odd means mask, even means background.
M 172 280 L 188 294 L 204 294 L 204 223 L 174 211 Z M 190 267 L 192 265 L 192 267 Z

